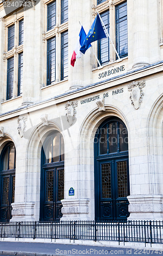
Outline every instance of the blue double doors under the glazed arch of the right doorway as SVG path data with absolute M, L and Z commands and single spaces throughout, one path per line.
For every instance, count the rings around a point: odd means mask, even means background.
M 128 159 L 99 160 L 96 177 L 96 219 L 125 220 L 129 216 Z

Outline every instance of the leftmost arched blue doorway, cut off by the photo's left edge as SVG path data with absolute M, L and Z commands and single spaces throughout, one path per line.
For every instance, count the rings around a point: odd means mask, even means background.
M 15 195 L 15 160 L 16 151 L 12 142 L 9 142 L 1 154 L 0 172 L 0 222 L 8 222 L 11 219 L 11 204 Z

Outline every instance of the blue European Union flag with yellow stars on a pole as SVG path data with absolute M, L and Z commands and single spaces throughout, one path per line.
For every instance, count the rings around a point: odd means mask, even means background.
M 86 50 L 89 48 L 91 42 L 94 42 L 105 37 L 106 35 L 98 13 L 93 24 L 91 25 L 91 28 L 89 29 L 87 36 L 85 37 L 85 40 L 80 48 L 80 51 L 84 54 Z

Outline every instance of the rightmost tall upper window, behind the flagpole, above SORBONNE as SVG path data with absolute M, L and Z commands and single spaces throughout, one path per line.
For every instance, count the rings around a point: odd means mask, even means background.
M 120 57 L 128 55 L 127 2 L 115 6 L 116 48 Z

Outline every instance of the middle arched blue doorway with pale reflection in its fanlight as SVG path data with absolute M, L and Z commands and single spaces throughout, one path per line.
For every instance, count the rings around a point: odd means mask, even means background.
M 46 137 L 41 150 L 40 221 L 62 217 L 64 199 L 64 141 L 58 131 Z

